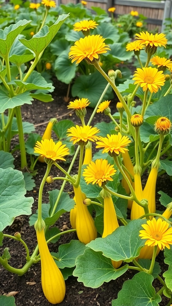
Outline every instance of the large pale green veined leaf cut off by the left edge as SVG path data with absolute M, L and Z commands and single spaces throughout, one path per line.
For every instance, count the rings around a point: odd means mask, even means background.
M 21 171 L 12 168 L 0 171 L 0 231 L 13 223 L 15 217 L 30 215 L 34 202 L 32 197 L 25 197 L 26 189 Z

